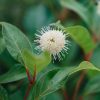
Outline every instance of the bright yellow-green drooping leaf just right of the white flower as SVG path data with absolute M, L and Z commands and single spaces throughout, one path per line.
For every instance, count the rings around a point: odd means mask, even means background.
M 95 43 L 86 28 L 82 26 L 72 26 L 67 27 L 65 30 L 86 54 L 95 48 Z

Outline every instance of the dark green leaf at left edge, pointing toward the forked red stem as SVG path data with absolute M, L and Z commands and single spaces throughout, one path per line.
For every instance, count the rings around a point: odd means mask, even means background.
M 25 68 L 22 66 L 13 66 L 7 73 L 0 75 L 0 84 L 18 81 L 27 77 Z

